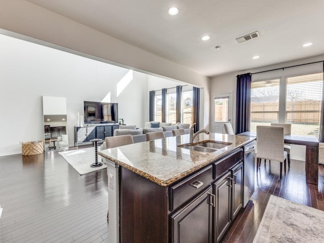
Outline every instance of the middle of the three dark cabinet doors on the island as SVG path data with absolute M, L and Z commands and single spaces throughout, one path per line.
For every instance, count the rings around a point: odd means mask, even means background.
M 226 173 L 214 183 L 216 196 L 215 207 L 215 242 L 219 242 L 231 223 L 231 172 Z

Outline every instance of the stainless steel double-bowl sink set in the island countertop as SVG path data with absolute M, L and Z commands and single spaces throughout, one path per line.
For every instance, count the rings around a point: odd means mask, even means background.
M 228 143 L 228 142 L 218 142 L 218 141 L 208 140 L 208 141 L 202 141 L 198 143 L 181 144 L 178 147 L 195 150 L 199 152 L 212 153 L 219 149 L 225 148 L 226 146 L 231 144 L 232 143 Z

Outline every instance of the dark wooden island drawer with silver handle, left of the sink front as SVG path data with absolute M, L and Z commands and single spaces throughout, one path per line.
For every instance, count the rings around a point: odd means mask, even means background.
M 170 211 L 213 182 L 213 166 L 209 166 L 170 188 Z

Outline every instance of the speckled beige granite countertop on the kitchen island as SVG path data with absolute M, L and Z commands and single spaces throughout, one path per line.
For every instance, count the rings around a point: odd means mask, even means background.
M 201 133 L 194 143 L 213 140 L 231 145 L 215 152 L 198 152 L 177 147 L 189 143 L 189 134 L 186 134 L 105 149 L 98 151 L 98 154 L 158 185 L 168 186 L 255 139 L 249 136 Z

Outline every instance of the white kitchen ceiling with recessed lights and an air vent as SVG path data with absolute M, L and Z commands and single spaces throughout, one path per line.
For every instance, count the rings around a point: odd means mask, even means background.
M 206 76 L 324 54 L 323 0 L 27 1 Z

